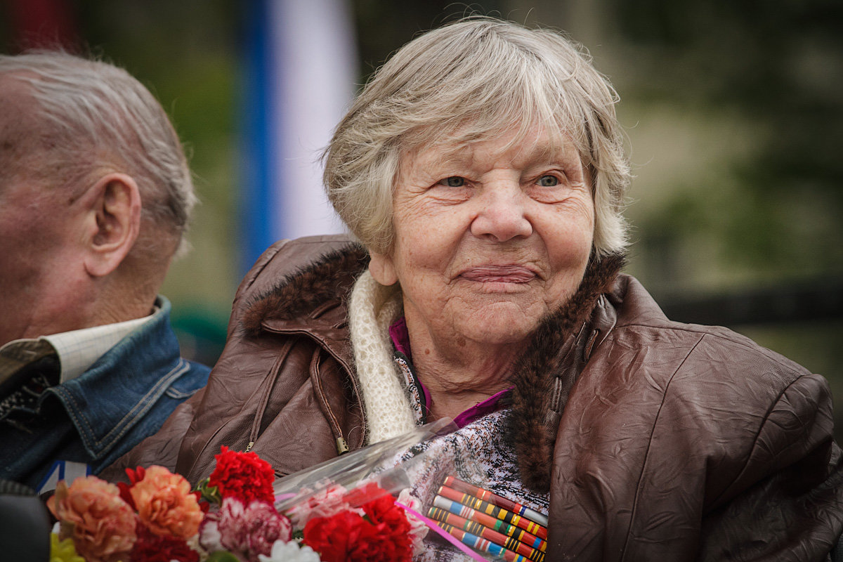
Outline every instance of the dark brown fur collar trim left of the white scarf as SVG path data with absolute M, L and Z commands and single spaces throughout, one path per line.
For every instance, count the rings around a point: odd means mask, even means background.
M 368 260 L 365 248 L 349 244 L 285 276 L 246 306 L 242 319 L 246 334 L 258 335 L 260 324 L 267 318 L 297 318 L 325 302 L 346 297 Z

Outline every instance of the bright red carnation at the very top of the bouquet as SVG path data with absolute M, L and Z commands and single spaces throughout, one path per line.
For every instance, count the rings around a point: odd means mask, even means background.
M 270 463 L 254 452 L 231 451 L 224 445 L 215 458 L 217 467 L 208 477 L 208 484 L 217 486 L 223 498 L 237 498 L 244 506 L 253 500 L 270 503 L 275 500 L 275 492 L 272 491 L 275 473 Z

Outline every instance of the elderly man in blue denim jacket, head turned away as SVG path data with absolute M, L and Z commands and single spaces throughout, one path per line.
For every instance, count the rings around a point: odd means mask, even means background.
M 97 474 L 207 382 L 158 296 L 196 201 L 127 72 L 0 56 L 0 479 Z

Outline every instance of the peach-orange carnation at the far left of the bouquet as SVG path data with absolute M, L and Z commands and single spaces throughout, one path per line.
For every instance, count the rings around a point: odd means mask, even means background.
M 96 476 L 60 481 L 47 506 L 62 525 L 59 538 L 72 538 L 88 562 L 125 558 L 136 540 L 135 514 L 114 484 Z

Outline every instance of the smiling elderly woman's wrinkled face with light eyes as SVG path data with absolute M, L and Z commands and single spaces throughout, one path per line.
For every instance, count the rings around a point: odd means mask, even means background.
M 395 244 L 373 254 L 400 282 L 411 329 L 433 342 L 512 344 L 559 308 L 592 246 L 591 187 L 570 142 L 537 129 L 407 153 L 395 186 Z

